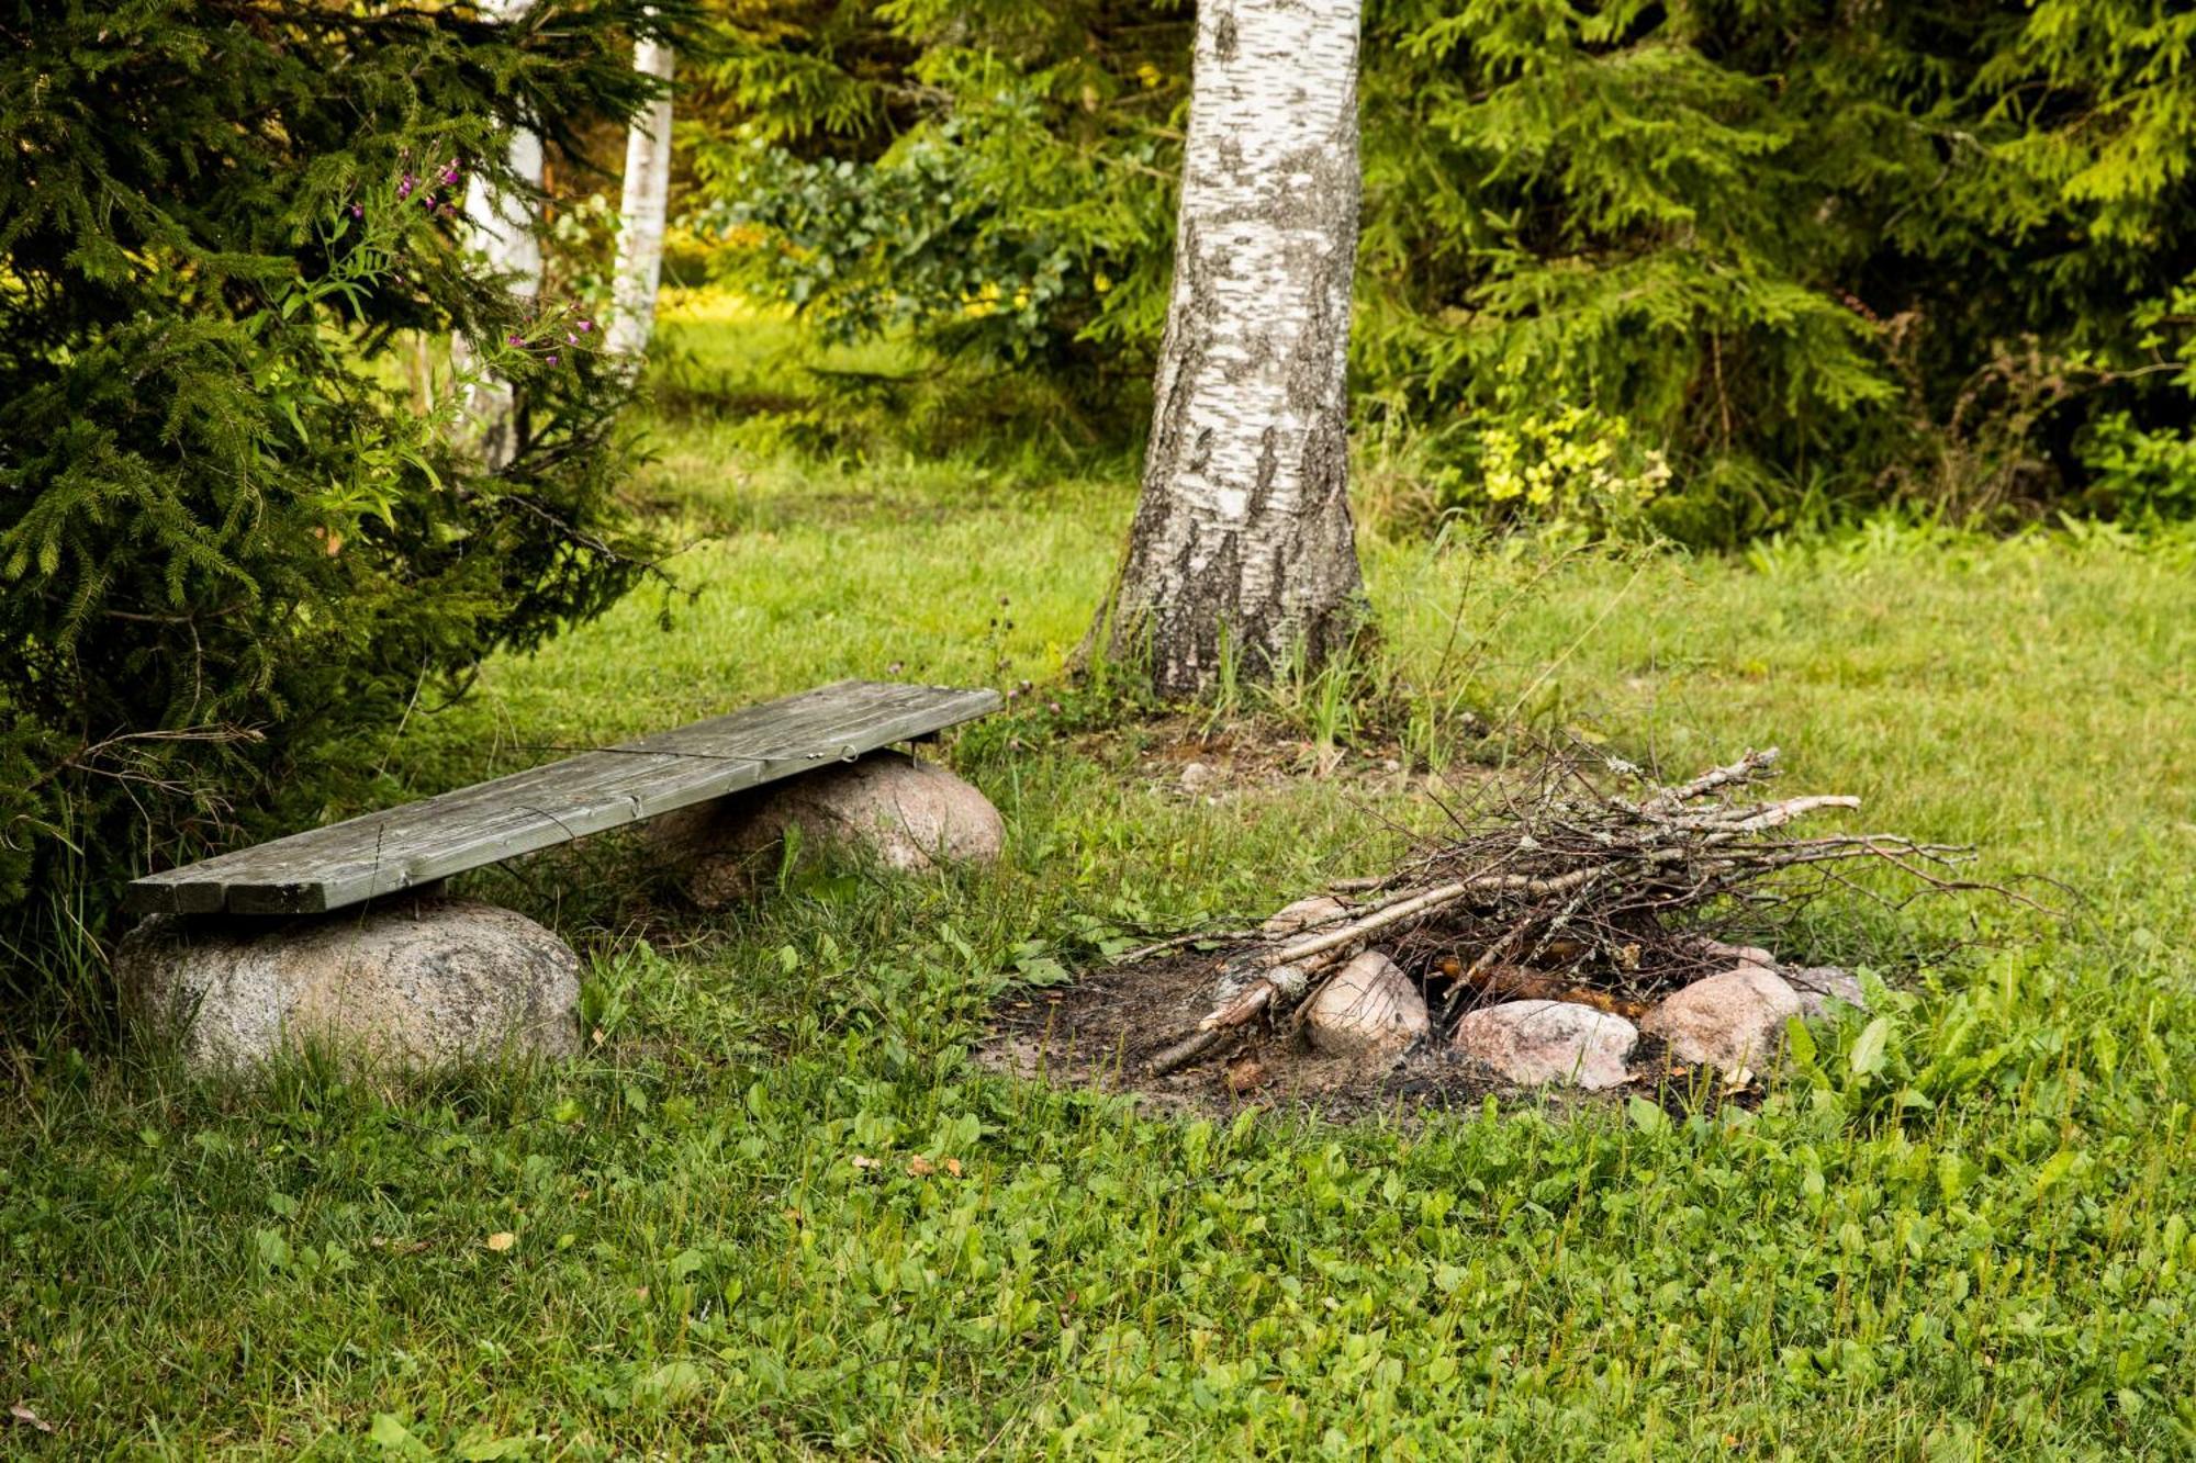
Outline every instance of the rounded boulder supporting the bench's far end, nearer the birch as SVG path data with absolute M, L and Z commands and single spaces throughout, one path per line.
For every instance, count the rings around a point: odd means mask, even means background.
M 1006 848 L 1006 819 L 984 793 L 938 762 L 898 751 L 668 813 L 650 837 L 685 894 L 718 909 L 775 872 L 793 828 L 806 846 L 854 848 L 903 872 L 990 863 Z

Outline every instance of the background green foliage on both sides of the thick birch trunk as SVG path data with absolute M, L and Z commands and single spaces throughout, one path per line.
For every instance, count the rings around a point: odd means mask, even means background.
M 703 149 L 727 272 L 1133 398 L 1188 24 L 742 7 Z M 1886 499 L 2185 512 L 2084 444 L 2117 413 L 2145 472 L 2187 444 L 2192 51 L 2196 15 L 2135 0 L 1375 0 L 1359 415 L 1419 501 L 1498 521 L 1487 446 L 1579 409 L 1667 459 L 1636 521 L 1695 540 Z

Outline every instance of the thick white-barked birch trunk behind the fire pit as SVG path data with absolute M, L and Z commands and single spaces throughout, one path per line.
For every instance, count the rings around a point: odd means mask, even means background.
M 1175 286 L 1129 551 L 1096 637 L 1164 694 L 1364 622 L 1344 351 L 1362 0 L 1197 7 Z

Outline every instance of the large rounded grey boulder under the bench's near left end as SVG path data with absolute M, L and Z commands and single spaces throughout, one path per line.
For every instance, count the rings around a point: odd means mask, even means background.
M 154 916 L 123 936 L 114 975 L 123 1010 L 202 1072 L 307 1046 L 406 1068 L 580 1048 L 580 958 L 523 914 L 477 901 Z

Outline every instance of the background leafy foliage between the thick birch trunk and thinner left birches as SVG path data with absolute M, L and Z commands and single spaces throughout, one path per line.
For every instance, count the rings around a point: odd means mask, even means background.
M 839 340 L 909 330 L 1133 400 L 1166 312 L 1186 18 L 806 9 L 742 9 L 712 72 L 698 222 L 747 244 L 720 277 Z

